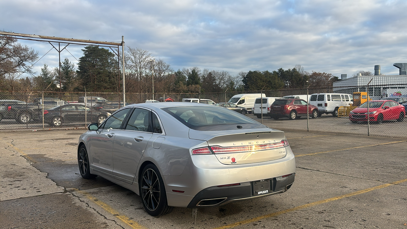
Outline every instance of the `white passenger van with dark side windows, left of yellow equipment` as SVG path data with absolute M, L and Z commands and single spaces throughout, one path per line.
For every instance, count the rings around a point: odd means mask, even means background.
M 332 114 L 337 117 L 340 106 L 353 104 L 353 96 L 339 93 L 317 93 L 311 95 L 309 103 L 318 108 L 319 116 L 321 114 Z

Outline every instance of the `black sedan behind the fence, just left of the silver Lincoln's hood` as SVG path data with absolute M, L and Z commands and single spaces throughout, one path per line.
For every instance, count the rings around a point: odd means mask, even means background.
M 90 108 L 81 104 L 66 104 L 44 110 L 44 121 L 50 126 L 61 126 L 67 123 L 84 123 L 86 118 L 87 122 L 100 124 L 105 121 L 110 114 L 111 113 L 105 111 L 92 111 Z

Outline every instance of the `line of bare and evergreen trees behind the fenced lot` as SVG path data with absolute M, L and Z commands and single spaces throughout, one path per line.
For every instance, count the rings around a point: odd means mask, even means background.
M 62 90 L 121 92 L 123 63 L 106 48 L 85 46 L 78 67 L 68 58 L 59 67 L 47 64 L 41 73 L 33 72 L 38 52 L 23 46 L 11 36 L 0 37 L 0 90 Z M 121 56 L 121 53 L 118 53 Z M 149 51 L 127 46 L 125 51 L 125 84 L 129 93 L 195 93 L 284 88 L 331 87 L 338 77 L 330 73 L 304 71 L 300 65 L 284 70 L 249 70 L 231 75 L 227 71 L 198 67 L 174 70 Z M 362 71 L 361 71 L 362 72 Z M 22 73 L 31 76 L 21 77 Z M 153 83 L 154 81 L 154 83 Z

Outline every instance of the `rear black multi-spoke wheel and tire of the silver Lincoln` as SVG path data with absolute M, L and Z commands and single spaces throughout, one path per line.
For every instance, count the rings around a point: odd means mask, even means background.
M 174 207 L 168 206 L 164 182 L 157 166 L 146 165 L 141 173 L 139 184 L 140 197 L 148 214 L 162 216 L 173 210 Z

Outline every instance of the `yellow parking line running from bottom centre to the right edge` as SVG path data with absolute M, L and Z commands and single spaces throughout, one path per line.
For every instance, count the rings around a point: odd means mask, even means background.
M 352 192 L 352 193 L 349 193 L 349 194 L 344 194 L 344 195 L 341 195 L 341 196 L 328 198 L 328 199 L 325 199 L 325 200 L 319 200 L 319 201 L 316 201 L 316 202 L 313 202 L 313 203 L 304 204 L 304 205 L 301 205 L 301 206 L 298 206 L 298 207 L 293 207 L 293 208 L 286 209 L 286 210 L 283 210 L 283 211 L 274 212 L 274 213 L 267 214 L 267 215 L 264 215 L 264 216 L 258 216 L 256 218 L 252 218 L 252 219 L 249 219 L 249 220 L 243 220 L 243 221 L 240 221 L 240 222 L 232 223 L 230 225 L 217 227 L 217 229 L 232 228 L 232 227 L 236 227 L 236 226 L 239 226 L 239 225 L 248 224 L 248 223 L 251 223 L 251 222 L 256 222 L 256 221 L 264 219 L 264 218 L 270 218 L 270 217 L 278 216 L 278 215 L 281 215 L 281 214 L 284 214 L 284 213 L 287 213 L 287 212 L 290 212 L 290 211 L 297 211 L 297 210 L 300 210 L 300 209 L 304 209 L 306 207 L 312 207 L 312 206 L 319 205 L 319 204 L 322 204 L 322 203 L 328 203 L 328 202 L 331 202 L 333 200 L 340 200 L 342 198 L 359 195 L 359 194 L 370 192 L 370 191 L 373 191 L 373 190 L 376 190 L 376 189 L 381 189 L 381 188 L 384 188 L 384 187 L 388 187 L 390 185 L 397 185 L 397 184 L 400 184 L 400 183 L 403 183 L 403 182 L 406 182 L 406 181 L 407 181 L 407 179 L 404 179 L 404 180 L 400 180 L 400 181 L 396 181 L 396 182 L 392 182 L 392 183 L 387 183 L 387 184 L 384 184 L 384 185 L 379 185 L 379 186 L 368 188 L 368 189 L 363 189 L 363 190 L 360 190 L 360 191 L 357 191 L 357 192 Z

